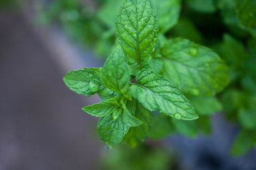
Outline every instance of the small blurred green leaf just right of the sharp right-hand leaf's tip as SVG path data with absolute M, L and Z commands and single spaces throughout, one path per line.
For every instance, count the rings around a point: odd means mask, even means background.
M 222 110 L 220 101 L 214 96 L 188 96 L 188 99 L 199 115 L 212 115 Z

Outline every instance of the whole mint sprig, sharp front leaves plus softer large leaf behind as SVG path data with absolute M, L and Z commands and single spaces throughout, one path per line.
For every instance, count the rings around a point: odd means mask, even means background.
M 161 131 L 169 130 L 157 131 L 164 121 L 195 136 L 204 125 L 192 120 L 220 109 L 214 95 L 228 84 L 228 67 L 210 48 L 165 38 L 174 25 L 164 25 L 166 17 L 172 18 L 168 15 L 156 11 L 151 0 L 124 0 L 115 25 L 117 41 L 104 66 L 70 71 L 63 78 L 70 90 L 101 97 L 101 103 L 83 110 L 100 117 L 98 134 L 109 148 L 121 141 L 136 146 L 148 136 L 161 138 Z M 200 107 L 211 102 L 212 110 Z

